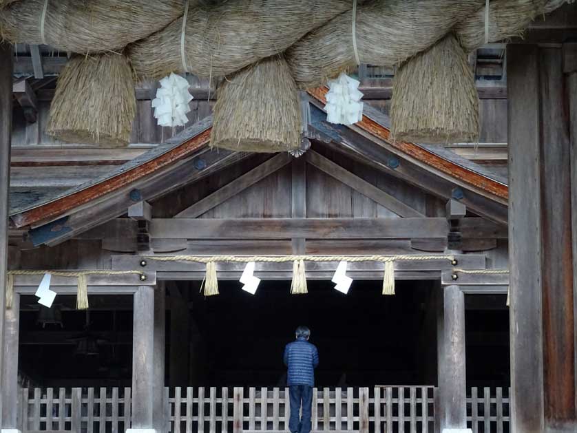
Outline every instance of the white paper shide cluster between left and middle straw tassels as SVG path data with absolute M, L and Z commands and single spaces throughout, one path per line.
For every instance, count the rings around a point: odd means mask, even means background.
M 156 99 L 152 101 L 154 117 L 158 125 L 185 126 L 190 112 L 189 102 L 193 100 L 189 92 L 189 82 L 180 75 L 170 74 L 160 80 Z

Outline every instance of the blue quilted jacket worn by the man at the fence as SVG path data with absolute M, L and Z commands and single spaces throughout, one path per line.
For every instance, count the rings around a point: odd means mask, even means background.
M 319 365 L 317 346 L 300 337 L 284 348 L 284 365 L 288 367 L 286 384 L 315 386 L 315 368 Z

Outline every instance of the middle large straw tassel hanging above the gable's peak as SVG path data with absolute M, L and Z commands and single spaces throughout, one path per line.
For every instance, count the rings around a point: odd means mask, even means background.
M 281 56 L 264 59 L 223 81 L 214 107 L 211 145 L 273 153 L 300 147 L 297 86 Z

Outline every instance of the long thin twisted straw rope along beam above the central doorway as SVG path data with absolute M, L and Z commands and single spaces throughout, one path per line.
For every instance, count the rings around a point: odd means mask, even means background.
M 268 262 L 283 263 L 303 260 L 304 262 L 395 262 L 395 260 L 454 260 L 453 255 L 280 255 L 280 256 L 237 256 L 237 255 L 148 255 L 159 262 Z

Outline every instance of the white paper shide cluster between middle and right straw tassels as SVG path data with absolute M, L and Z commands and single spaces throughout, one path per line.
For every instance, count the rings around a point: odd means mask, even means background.
M 363 94 L 360 82 L 342 72 L 339 78 L 328 82 L 326 120 L 337 125 L 353 125 L 363 119 Z

